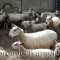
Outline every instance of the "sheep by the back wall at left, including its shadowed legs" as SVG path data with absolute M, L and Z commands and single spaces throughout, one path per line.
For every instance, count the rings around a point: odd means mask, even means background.
M 27 20 L 27 18 L 29 17 L 29 14 L 19 14 L 19 13 L 7 13 L 7 24 L 8 26 L 11 27 L 12 23 L 15 23 L 16 25 L 20 26 L 21 22 L 24 20 Z

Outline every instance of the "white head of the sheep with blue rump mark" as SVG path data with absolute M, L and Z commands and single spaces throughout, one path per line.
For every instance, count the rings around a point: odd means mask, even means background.
M 11 37 L 16 37 L 18 36 L 21 32 L 23 32 L 23 29 L 21 29 L 20 27 L 13 25 L 12 29 L 9 32 L 9 36 Z

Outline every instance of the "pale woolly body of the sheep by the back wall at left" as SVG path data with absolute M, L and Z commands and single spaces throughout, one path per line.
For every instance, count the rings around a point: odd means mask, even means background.
M 25 18 L 29 17 L 29 14 L 18 14 L 18 13 L 8 13 L 10 21 L 23 21 Z

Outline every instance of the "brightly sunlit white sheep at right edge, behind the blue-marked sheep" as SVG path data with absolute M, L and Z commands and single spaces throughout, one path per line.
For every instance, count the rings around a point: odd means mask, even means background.
M 51 22 L 53 25 L 51 25 L 50 22 Z M 59 19 L 59 17 L 47 16 L 47 18 L 46 18 L 46 23 L 47 23 L 47 24 L 50 24 L 51 27 L 53 26 L 53 27 L 54 27 L 53 30 L 57 30 L 57 29 L 59 28 L 59 26 L 60 26 L 60 19 Z

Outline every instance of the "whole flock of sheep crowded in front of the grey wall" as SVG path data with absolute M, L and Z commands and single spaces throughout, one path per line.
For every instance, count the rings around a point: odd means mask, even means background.
M 31 9 L 22 12 L 21 9 L 18 12 L 1 9 L 0 28 L 9 29 L 8 36 L 18 39 L 12 42 L 11 48 L 18 51 L 19 59 L 59 60 L 60 43 L 56 42 L 59 41 L 57 32 L 60 31 L 59 11 L 39 14 Z M 10 54 L 12 52 L 0 50 L 0 60 L 17 60 Z

